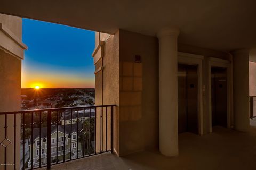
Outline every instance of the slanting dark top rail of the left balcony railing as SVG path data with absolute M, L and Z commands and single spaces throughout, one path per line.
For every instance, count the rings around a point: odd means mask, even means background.
M 47 112 L 47 111 L 61 111 L 61 110 L 70 110 L 70 109 L 79 109 L 79 108 L 98 108 L 98 107 L 111 107 L 116 105 L 94 105 L 94 106 L 77 106 L 77 107 L 58 107 L 58 108 L 45 108 L 45 109 L 34 109 L 34 110 L 23 110 L 23 111 L 11 111 L 11 112 L 0 112 L 0 115 L 5 114 L 19 114 L 19 113 L 31 113 L 31 112 Z

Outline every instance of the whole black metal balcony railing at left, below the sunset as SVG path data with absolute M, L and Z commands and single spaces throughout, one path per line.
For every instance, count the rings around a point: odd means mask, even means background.
M 1 112 L 4 139 L 0 139 L 0 144 L 4 152 L 0 157 L 4 157 L 4 169 L 8 165 L 13 165 L 13 169 L 50 168 L 54 164 L 113 152 L 114 107 L 100 105 Z M 19 121 L 20 128 L 17 128 Z M 17 143 L 17 133 L 21 134 L 20 143 Z M 9 147 L 13 147 L 13 152 L 7 151 Z M 20 150 L 17 151 L 17 147 Z M 20 167 L 16 166 L 17 154 L 20 154 Z M 9 157 L 13 158 L 11 163 Z

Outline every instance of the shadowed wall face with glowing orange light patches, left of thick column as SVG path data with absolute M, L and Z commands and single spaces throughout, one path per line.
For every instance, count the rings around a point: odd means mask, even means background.
M 158 147 L 158 40 L 120 30 L 119 50 L 119 154 L 126 155 Z

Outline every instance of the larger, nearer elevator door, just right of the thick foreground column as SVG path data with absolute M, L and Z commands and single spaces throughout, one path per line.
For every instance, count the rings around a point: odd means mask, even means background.
M 179 133 L 198 134 L 197 66 L 178 64 Z

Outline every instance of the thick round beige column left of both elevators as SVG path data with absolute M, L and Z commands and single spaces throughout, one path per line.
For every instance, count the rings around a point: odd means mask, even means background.
M 165 156 L 177 156 L 178 80 L 177 38 L 179 29 L 165 28 L 159 39 L 159 148 Z

